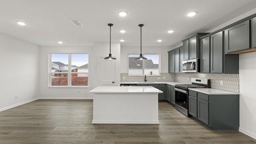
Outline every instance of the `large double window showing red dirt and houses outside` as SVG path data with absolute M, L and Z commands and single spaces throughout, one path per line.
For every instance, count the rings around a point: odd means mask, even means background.
M 88 86 L 88 54 L 50 54 L 49 86 Z

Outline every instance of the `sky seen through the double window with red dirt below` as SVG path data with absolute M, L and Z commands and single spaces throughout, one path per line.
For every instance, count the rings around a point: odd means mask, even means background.
M 72 65 L 82 66 L 88 64 L 88 54 L 72 54 Z M 68 64 L 68 54 L 52 54 L 52 62 L 62 62 Z

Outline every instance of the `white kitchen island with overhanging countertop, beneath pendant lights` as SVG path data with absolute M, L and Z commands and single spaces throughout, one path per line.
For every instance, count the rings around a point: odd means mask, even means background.
M 98 86 L 92 124 L 159 124 L 158 93 L 152 86 Z

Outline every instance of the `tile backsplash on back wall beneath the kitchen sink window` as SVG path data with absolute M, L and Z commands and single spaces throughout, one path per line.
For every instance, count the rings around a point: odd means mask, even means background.
M 175 74 L 160 73 L 160 76 L 146 76 L 148 82 L 174 82 Z M 120 73 L 120 82 L 144 82 L 145 76 L 128 76 L 128 73 Z

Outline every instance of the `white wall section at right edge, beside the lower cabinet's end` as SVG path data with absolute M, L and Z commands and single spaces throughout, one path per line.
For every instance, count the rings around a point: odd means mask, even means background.
M 256 52 L 239 55 L 241 132 L 256 139 Z

